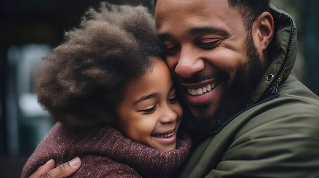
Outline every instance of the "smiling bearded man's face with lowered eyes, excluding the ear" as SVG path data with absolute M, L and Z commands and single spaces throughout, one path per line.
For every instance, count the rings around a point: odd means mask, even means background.
M 167 63 L 192 114 L 241 110 L 246 102 L 242 96 L 258 82 L 251 77 L 258 78 L 254 75 L 262 67 L 240 12 L 226 0 L 159 0 L 155 20 Z

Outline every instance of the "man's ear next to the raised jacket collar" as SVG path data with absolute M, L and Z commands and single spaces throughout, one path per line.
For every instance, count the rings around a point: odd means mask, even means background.
M 267 49 L 274 35 L 274 18 L 269 12 L 261 13 L 253 23 L 254 43 L 259 52 Z

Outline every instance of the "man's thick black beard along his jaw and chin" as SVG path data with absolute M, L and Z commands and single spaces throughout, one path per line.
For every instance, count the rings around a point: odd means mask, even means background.
M 196 107 L 199 115 L 189 119 L 189 127 L 195 136 L 219 131 L 223 123 L 237 112 L 246 108 L 251 93 L 256 89 L 262 76 L 262 63 L 252 36 L 247 38 L 248 62 L 238 68 L 231 84 L 225 87 L 214 113 L 207 113 L 209 105 Z M 224 75 L 225 76 L 225 75 Z M 229 77 L 227 75 L 227 79 Z

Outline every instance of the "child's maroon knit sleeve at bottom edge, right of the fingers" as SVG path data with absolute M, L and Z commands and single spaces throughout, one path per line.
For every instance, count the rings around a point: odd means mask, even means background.
M 126 164 L 99 155 L 86 155 L 82 165 L 71 177 L 142 177 Z

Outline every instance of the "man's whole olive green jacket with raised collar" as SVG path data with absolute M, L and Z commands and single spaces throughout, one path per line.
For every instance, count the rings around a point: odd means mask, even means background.
M 319 177 L 319 98 L 292 74 L 294 20 L 271 8 L 273 60 L 251 104 L 195 143 L 180 177 Z

